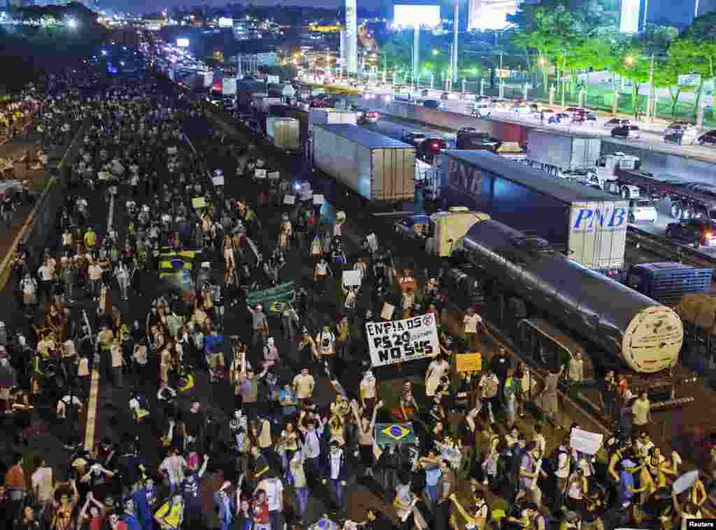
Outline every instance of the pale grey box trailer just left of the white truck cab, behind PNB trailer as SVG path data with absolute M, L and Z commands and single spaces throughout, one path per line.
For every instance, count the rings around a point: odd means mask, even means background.
M 527 159 L 532 167 L 552 175 L 579 167 L 594 167 L 599 160 L 600 149 L 599 137 L 539 129 L 530 129 L 527 133 Z

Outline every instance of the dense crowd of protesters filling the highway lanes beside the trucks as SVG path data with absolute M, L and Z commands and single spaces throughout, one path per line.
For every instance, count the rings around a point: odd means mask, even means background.
M 604 394 L 621 403 L 619 429 L 595 455 L 576 451 L 560 429 L 556 382 L 577 381 L 579 366 L 536 384 L 483 337 L 473 308 L 459 338 L 441 333 L 425 378 L 401 378 L 392 397 L 395 376 L 372 370 L 360 330 L 387 301 L 399 308 L 392 318 L 447 318 L 440 274 L 397 267 L 375 234 L 354 245 L 360 228 L 342 212 L 321 215 L 286 176 L 256 182 L 271 164 L 252 146 L 211 127 L 190 145 L 207 111 L 163 83 L 87 97 L 67 87 L 38 118 L 48 134 L 62 134 L 69 116 L 89 127 L 57 237 L 13 257 L 27 325 L 0 323 L 0 404 L 14 437 L 4 528 L 685 529 L 703 515 L 716 451 L 708 472 L 674 493 L 681 459 L 654 446 L 648 399 L 628 396 L 616 375 Z M 218 167 L 226 159 L 235 172 Z M 211 177 L 246 192 L 228 197 Z M 163 279 L 167 255 L 190 265 Z M 304 264 L 301 280 L 291 268 Z M 347 268 L 360 271 L 360 288 L 342 285 Z M 293 300 L 278 313 L 247 306 L 288 280 Z M 465 350 L 495 350 L 478 373 L 455 372 L 462 338 Z M 345 365 L 362 367 L 357 381 L 337 375 Z M 115 403 L 119 434 L 100 432 L 88 451 L 95 371 L 100 401 L 106 388 L 127 398 Z M 410 423 L 415 441 L 376 451 L 377 422 Z M 51 454 L 33 448 L 43 424 L 62 444 Z M 359 495 L 369 500 L 349 506 Z

